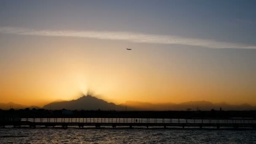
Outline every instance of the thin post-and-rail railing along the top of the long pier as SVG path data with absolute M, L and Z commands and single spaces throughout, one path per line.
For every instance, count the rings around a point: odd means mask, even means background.
M 17 120 L 17 119 L 10 119 Z M 35 123 L 256 123 L 252 118 L 167 119 L 167 118 L 21 118 Z

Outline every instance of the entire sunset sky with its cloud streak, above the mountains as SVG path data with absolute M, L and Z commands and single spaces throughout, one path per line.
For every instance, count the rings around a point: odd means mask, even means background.
M 1 0 L 0 103 L 256 105 L 254 0 Z M 131 48 L 127 51 L 126 48 Z

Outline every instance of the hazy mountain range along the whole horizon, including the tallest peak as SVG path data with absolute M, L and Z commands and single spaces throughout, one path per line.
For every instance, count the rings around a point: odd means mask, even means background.
M 24 109 L 27 106 L 15 103 L 0 104 L 0 109 L 10 109 L 12 106 L 14 109 Z M 39 108 L 31 106 L 29 108 Z M 240 105 L 231 105 L 226 102 L 221 103 L 212 103 L 210 101 L 186 101 L 181 103 L 159 103 L 152 104 L 149 102 L 141 101 L 126 101 L 123 104 L 115 104 L 112 102 L 104 101 L 103 99 L 98 99 L 94 96 L 87 95 L 81 96 L 78 99 L 71 101 L 53 101 L 49 104 L 46 104 L 42 107 L 43 109 L 70 109 L 70 110 L 117 110 L 117 111 L 165 111 L 165 110 L 256 110 L 255 106 L 250 104 L 240 104 Z

